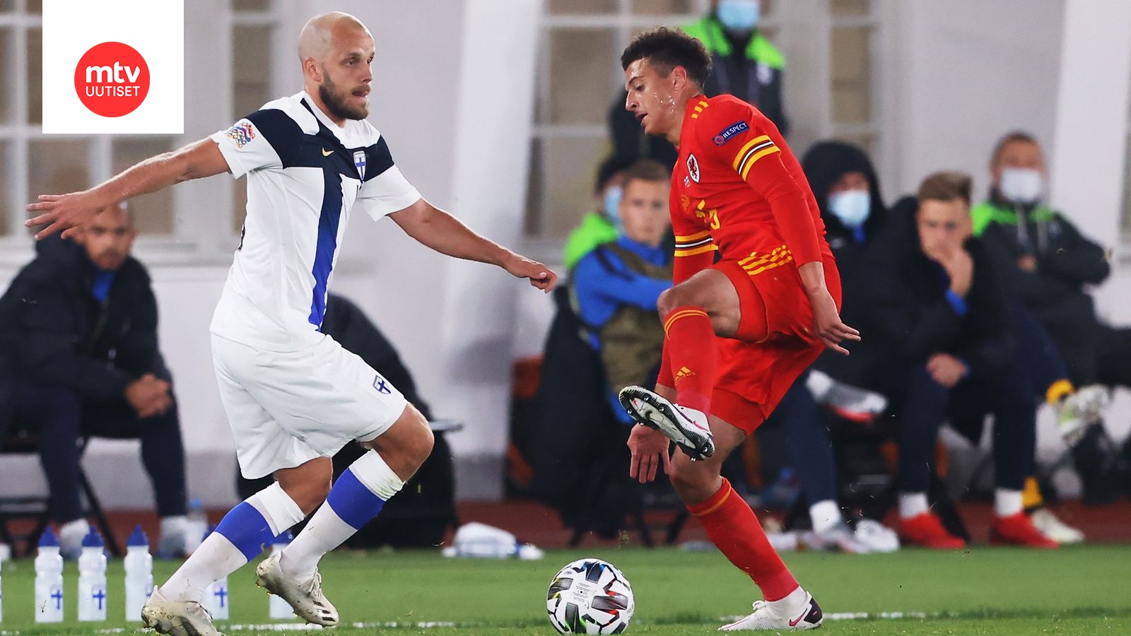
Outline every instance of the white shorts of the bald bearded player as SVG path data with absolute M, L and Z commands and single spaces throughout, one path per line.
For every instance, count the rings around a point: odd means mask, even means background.
M 240 472 L 257 479 L 381 435 L 408 403 L 330 336 L 294 352 L 211 337 L 219 398 Z

